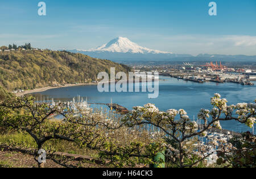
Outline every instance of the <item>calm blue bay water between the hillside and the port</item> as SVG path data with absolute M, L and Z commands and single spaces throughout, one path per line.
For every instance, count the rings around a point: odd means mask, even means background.
M 142 84 L 143 85 L 143 84 Z M 32 95 L 54 98 L 56 101 L 71 101 L 73 97 L 80 95 L 88 97 L 90 103 L 113 103 L 125 106 L 131 109 L 133 106 L 144 105 L 147 103 L 155 104 L 160 110 L 185 109 L 193 119 L 201 108 L 211 109 L 210 97 L 214 93 L 220 93 L 222 97 L 228 100 L 228 104 L 253 103 L 256 99 L 256 86 L 242 86 L 236 83 L 195 83 L 185 82 L 176 78 L 161 76 L 159 82 L 159 97 L 157 99 L 148 99 L 148 94 L 143 92 L 103 92 L 97 90 L 97 86 L 76 86 L 56 88 L 44 92 L 32 93 Z M 92 105 L 93 108 L 99 107 Z M 222 122 L 222 127 L 234 131 L 251 131 L 238 122 Z

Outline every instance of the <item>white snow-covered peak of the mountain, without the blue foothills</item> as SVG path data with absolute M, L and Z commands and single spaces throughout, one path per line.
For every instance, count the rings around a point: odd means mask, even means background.
M 88 52 L 112 52 L 112 53 L 141 53 L 141 54 L 172 54 L 171 52 L 162 52 L 159 50 L 152 50 L 145 48 L 143 46 L 139 46 L 134 42 L 130 41 L 126 37 L 118 37 L 116 39 L 111 40 L 107 44 L 102 46 L 98 46 L 94 49 L 89 50 L 81 50 L 81 51 L 88 51 Z

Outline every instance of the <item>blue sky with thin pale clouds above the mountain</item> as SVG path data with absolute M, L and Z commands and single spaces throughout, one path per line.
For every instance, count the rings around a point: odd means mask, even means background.
M 90 49 L 115 37 L 147 48 L 197 55 L 256 55 L 256 1 L 215 0 L 1 0 L 0 45 L 49 49 Z

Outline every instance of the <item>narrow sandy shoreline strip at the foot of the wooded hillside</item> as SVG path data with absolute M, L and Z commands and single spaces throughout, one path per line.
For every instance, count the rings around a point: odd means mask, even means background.
M 90 86 L 90 85 L 97 85 L 98 83 L 79 83 L 79 84 L 65 84 L 65 86 L 58 86 L 58 87 L 42 87 L 42 88 L 36 88 L 34 90 L 27 90 L 27 91 L 24 91 L 24 92 L 18 92 L 18 93 L 15 93 L 15 95 L 17 97 L 20 97 L 20 96 L 23 96 L 23 95 L 27 95 L 27 94 L 30 94 L 30 93 L 36 93 L 36 92 L 44 92 L 44 91 L 47 91 L 47 90 L 52 90 L 52 89 L 55 89 L 55 88 L 66 88 L 66 87 L 75 87 L 75 86 Z

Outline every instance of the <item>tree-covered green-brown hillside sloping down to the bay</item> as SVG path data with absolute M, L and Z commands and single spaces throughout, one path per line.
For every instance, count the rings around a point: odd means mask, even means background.
M 51 50 L 0 52 L 0 85 L 8 91 L 84 83 L 97 79 L 98 73 L 110 67 L 127 72 L 129 67 L 83 54 Z

